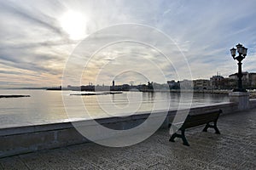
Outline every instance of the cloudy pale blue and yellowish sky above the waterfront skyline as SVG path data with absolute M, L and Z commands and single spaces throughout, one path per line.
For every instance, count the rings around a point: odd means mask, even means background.
M 0 88 L 256 72 L 253 0 L 0 1 Z M 64 80 L 64 81 L 63 81 Z M 67 84 L 66 84 L 67 83 Z

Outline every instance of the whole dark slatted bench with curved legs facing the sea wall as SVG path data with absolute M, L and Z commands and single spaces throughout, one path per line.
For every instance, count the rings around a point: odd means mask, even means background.
M 222 110 L 211 111 L 200 115 L 188 115 L 184 122 L 170 123 L 169 126 L 172 125 L 172 129 L 175 130 L 174 132 L 176 133 L 172 134 L 169 141 L 175 142 L 175 138 L 181 138 L 183 139 L 183 144 L 189 146 L 189 142 L 185 137 L 185 130 L 203 124 L 207 124 L 204 127 L 203 132 L 207 132 L 207 129 L 210 127 L 215 129 L 215 133 L 220 134 L 217 127 L 218 116 L 220 113 L 222 113 Z M 181 133 L 177 133 L 178 131 L 181 131 Z

